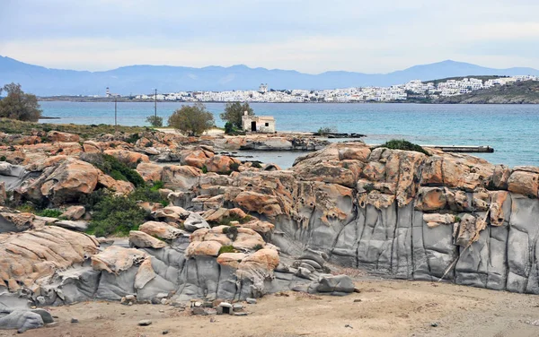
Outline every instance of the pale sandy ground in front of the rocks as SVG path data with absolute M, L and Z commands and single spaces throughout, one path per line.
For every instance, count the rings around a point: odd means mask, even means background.
M 251 315 L 192 316 L 170 306 L 85 302 L 51 307 L 58 324 L 26 336 L 539 336 L 539 298 L 446 283 L 358 281 L 347 297 L 287 292 Z M 71 324 L 76 317 L 78 324 Z M 138 326 L 142 319 L 153 324 Z M 537 321 L 537 325 L 533 323 Z M 532 323 L 532 324 L 530 324 Z M 437 324 L 437 326 L 432 326 Z M 0 336 L 15 332 L 0 331 Z

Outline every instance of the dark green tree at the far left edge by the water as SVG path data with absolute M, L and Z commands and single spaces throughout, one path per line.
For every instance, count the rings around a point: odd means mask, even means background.
M 37 122 L 41 117 L 40 104 L 35 95 L 24 93 L 21 84 L 10 83 L 0 89 L 7 96 L 0 100 L 0 117 Z

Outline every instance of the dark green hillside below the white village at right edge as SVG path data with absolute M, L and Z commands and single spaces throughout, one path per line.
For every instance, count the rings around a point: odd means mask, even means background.
M 539 104 L 539 82 L 526 81 L 502 85 L 464 95 L 443 97 L 434 103 L 449 104 Z

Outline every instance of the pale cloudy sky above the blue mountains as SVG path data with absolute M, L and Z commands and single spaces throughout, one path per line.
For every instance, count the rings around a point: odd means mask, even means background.
M 0 0 L 0 56 L 51 68 L 539 69 L 537 0 Z

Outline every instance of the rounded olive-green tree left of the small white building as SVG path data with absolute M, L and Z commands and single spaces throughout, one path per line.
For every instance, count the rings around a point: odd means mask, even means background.
M 183 134 L 198 135 L 215 125 L 214 117 L 202 103 L 194 106 L 183 106 L 172 113 L 169 126 Z

